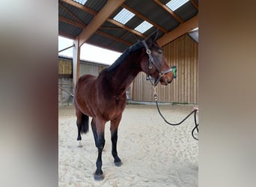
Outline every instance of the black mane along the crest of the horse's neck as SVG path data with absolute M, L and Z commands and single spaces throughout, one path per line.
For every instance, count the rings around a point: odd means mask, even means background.
M 110 66 L 105 69 L 106 72 L 112 72 L 116 68 L 122 64 L 122 62 L 132 53 L 137 51 L 138 49 L 141 49 L 143 46 L 143 43 L 141 41 L 138 41 L 137 43 L 133 44 L 132 46 L 129 46 L 124 53 Z

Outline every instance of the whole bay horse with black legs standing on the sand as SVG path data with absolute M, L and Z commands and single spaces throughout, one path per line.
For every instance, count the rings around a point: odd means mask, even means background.
M 110 67 L 99 76 L 84 75 L 76 82 L 74 103 L 76 108 L 77 141 L 81 145 L 81 133 L 88 132 L 89 116 L 91 129 L 98 149 L 94 180 L 103 180 L 102 152 L 105 145 L 105 125 L 110 120 L 112 156 L 115 166 L 120 166 L 118 156 L 118 126 L 126 106 L 126 91 L 139 72 L 144 72 L 157 83 L 168 85 L 173 73 L 156 43 L 158 30 L 147 39 L 130 46 Z

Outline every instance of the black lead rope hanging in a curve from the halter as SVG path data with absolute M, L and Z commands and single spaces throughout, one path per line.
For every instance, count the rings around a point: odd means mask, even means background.
M 194 109 L 190 114 L 188 114 L 183 120 L 180 121 L 180 123 L 170 123 L 168 122 L 168 120 L 165 119 L 165 117 L 162 115 L 161 111 L 160 111 L 160 108 L 159 108 L 159 105 L 158 105 L 158 102 L 157 102 L 157 94 L 156 94 L 156 87 L 153 88 L 153 96 L 155 98 L 155 101 L 156 101 L 156 108 L 157 108 L 157 111 L 159 112 L 160 116 L 162 117 L 162 119 L 165 121 L 165 123 L 168 123 L 169 125 L 171 126 L 178 126 L 180 125 L 181 123 L 183 123 L 190 115 L 192 115 L 194 113 L 194 121 L 195 121 L 195 127 L 192 129 L 192 137 L 198 141 L 198 138 L 195 137 L 194 135 L 194 132 L 195 132 L 195 129 L 197 130 L 198 132 L 198 123 L 197 123 L 197 120 L 196 120 L 196 112 L 198 111 L 198 109 Z

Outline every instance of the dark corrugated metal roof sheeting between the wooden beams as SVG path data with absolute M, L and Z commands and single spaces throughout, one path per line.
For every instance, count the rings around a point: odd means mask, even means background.
M 86 43 L 123 52 L 124 49 L 127 49 L 127 46 L 129 46 L 128 43 L 132 44 L 136 43 L 138 40 L 144 39 L 138 33 L 135 33 L 134 30 L 145 21 L 144 18 L 146 18 L 146 21 L 150 22 L 150 24 L 155 23 L 143 33 L 144 37 L 149 36 L 158 27 L 162 27 L 162 29 L 159 29 L 159 37 L 162 37 L 166 31 L 170 32 L 180 25 L 180 21 L 177 17 L 175 18 L 174 15 L 168 13 L 168 11 L 158 4 L 166 4 L 168 1 L 169 0 L 124 1 L 124 7 L 127 7 L 127 10 L 133 12 L 135 16 L 132 16 L 129 21 L 124 23 L 125 27 L 112 22 L 111 19 L 114 19 L 114 17 L 124 9 L 122 6 L 118 7 L 109 18 L 104 18 L 106 22 L 103 22 L 100 28 L 97 28 L 97 31 L 86 40 Z M 83 8 L 81 5 L 82 2 L 79 4 L 73 0 L 59 0 L 58 16 L 61 18 L 58 22 L 59 34 L 65 34 L 66 37 L 79 36 L 82 30 L 86 29 L 86 25 L 94 21 L 95 14 L 103 10 L 107 2 L 108 0 L 88 0 L 85 2 L 85 5 L 83 5 L 85 8 Z M 193 0 L 193 4 L 194 2 L 195 5 L 198 6 L 198 0 Z M 174 10 L 174 13 L 180 17 L 183 22 L 186 22 L 198 14 L 198 8 L 193 4 L 192 1 L 188 1 L 177 10 Z M 122 21 L 119 20 L 119 22 Z M 132 30 L 133 32 L 131 32 Z

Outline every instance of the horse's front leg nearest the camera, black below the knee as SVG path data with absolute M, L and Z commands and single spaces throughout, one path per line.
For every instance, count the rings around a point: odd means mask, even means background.
M 98 149 L 98 157 L 96 161 L 96 171 L 94 174 L 94 180 L 103 180 L 104 175 L 102 171 L 102 153 L 103 153 L 103 148 L 105 146 L 105 138 L 104 138 L 104 129 L 105 129 L 105 123 L 100 120 L 92 120 L 91 121 L 91 129 L 94 132 L 94 140 L 95 140 L 95 145 Z

